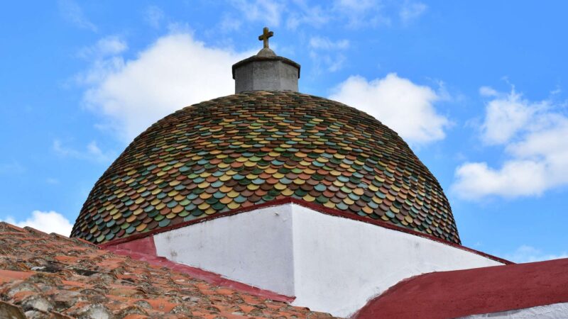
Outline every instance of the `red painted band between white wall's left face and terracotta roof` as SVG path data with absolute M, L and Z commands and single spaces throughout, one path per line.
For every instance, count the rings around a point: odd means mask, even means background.
M 214 272 L 207 272 L 203 269 L 172 262 L 165 257 L 159 257 L 156 254 L 153 236 L 138 238 L 137 240 L 131 240 L 129 242 L 119 243 L 116 245 L 107 245 L 106 247 L 104 247 L 104 249 L 109 250 L 110 252 L 114 252 L 115 254 L 121 254 L 124 256 L 129 256 L 132 259 L 148 262 L 149 264 L 153 264 L 155 266 L 168 267 L 169 269 L 175 270 L 176 272 L 181 272 L 197 279 L 202 279 L 215 286 L 228 287 L 237 291 L 251 293 L 254 296 L 268 298 L 273 301 L 284 301 L 290 303 L 295 299 L 295 297 L 285 296 L 266 289 L 260 289 L 258 287 L 244 284 L 239 281 L 226 279 L 222 275 L 216 274 Z

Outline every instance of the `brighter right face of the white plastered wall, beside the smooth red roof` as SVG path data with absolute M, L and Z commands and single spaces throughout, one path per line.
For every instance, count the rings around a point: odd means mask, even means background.
M 348 316 L 398 281 L 501 264 L 479 254 L 357 220 L 293 207 L 294 304 Z

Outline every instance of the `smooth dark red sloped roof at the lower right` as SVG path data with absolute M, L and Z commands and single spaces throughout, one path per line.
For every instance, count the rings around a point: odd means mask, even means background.
M 568 259 L 415 276 L 354 318 L 458 318 L 568 302 Z

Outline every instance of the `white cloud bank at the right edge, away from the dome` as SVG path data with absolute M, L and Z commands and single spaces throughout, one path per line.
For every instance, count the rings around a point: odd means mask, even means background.
M 539 196 L 568 184 L 568 117 L 552 101 L 532 102 L 512 90 L 492 94 L 481 125 L 481 140 L 502 145 L 501 167 L 465 162 L 452 190 L 461 198 Z

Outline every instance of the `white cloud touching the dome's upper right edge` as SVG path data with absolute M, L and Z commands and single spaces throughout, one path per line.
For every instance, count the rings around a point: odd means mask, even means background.
M 341 101 L 374 116 L 410 144 L 426 144 L 445 137 L 449 126 L 434 103 L 440 96 L 428 86 L 388 74 L 368 82 L 354 76 L 339 84 L 330 99 Z

